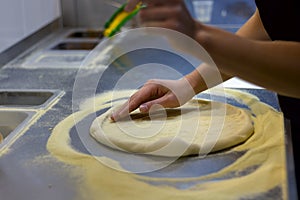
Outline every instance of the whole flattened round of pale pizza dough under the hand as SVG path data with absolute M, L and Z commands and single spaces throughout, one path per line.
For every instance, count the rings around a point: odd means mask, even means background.
M 175 109 L 133 112 L 112 122 L 111 108 L 91 125 L 100 143 L 122 151 L 158 156 L 207 154 L 240 144 L 253 133 L 250 114 L 220 102 L 191 100 Z

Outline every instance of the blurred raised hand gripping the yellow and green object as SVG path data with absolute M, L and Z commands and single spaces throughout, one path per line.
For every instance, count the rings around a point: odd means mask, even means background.
M 126 11 L 132 11 L 140 0 L 128 0 Z M 194 38 L 199 25 L 187 10 L 184 0 L 143 0 L 146 8 L 139 12 L 142 26 L 161 27 Z

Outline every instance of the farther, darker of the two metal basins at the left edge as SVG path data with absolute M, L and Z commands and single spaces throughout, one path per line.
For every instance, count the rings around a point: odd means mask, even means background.
M 43 107 L 60 94 L 59 91 L 0 91 L 0 107 Z

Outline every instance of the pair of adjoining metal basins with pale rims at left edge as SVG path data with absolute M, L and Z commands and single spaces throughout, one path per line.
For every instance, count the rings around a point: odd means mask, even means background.
M 53 105 L 64 92 L 59 90 L 0 90 L 0 149 L 12 143 L 30 125 L 36 111 Z

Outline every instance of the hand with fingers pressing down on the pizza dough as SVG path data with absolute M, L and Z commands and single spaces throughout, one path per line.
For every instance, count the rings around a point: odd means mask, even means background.
M 194 95 L 193 88 L 184 78 L 180 80 L 149 80 L 125 104 L 112 113 L 111 119 L 118 121 L 137 108 L 141 112 L 147 113 L 154 105 L 175 108 L 186 103 Z

